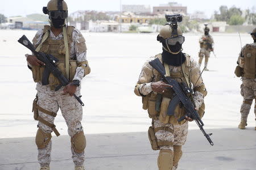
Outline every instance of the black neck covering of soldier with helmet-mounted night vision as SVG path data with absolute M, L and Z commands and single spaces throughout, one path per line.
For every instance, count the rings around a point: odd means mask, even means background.
M 162 60 L 171 66 L 181 66 L 185 62 L 185 55 L 180 52 L 178 54 L 172 54 L 163 49 Z

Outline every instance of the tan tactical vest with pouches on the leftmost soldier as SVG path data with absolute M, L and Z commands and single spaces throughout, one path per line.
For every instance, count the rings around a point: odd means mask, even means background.
M 70 51 L 71 51 L 71 43 L 73 42 L 73 37 L 72 37 L 72 32 L 73 32 L 74 27 L 68 26 L 67 27 L 67 41 L 68 41 L 68 56 L 70 56 Z M 51 28 L 49 25 L 45 25 L 43 29 L 43 39 L 44 35 L 48 32 L 48 37 L 46 40 L 41 40 L 40 44 L 40 50 L 39 52 L 46 53 L 46 54 L 52 54 L 56 58 L 59 59 L 59 62 L 56 63 L 57 68 L 63 73 L 63 75 L 67 78 L 69 77 L 68 81 L 72 82 L 75 74 L 76 74 L 76 68 L 77 68 L 77 61 L 72 60 L 69 57 L 69 75 L 67 76 L 66 74 L 66 69 L 65 69 L 65 43 L 64 39 L 60 40 L 52 40 L 51 37 L 49 36 Z M 42 42 L 43 41 L 43 42 Z M 38 47 L 37 46 L 37 47 Z M 34 82 L 42 82 L 43 78 L 43 71 L 44 67 L 42 66 L 32 66 L 32 74 L 33 74 L 33 79 Z M 53 76 L 51 73 L 49 75 L 49 86 L 57 86 L 60 84 L 59 80 Z

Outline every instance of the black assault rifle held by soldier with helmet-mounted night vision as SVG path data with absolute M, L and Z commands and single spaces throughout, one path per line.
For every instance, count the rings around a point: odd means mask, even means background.
M 203 128 L 204 123 L 201 121 L 201 118 L 195 109 L 195 104 L 193 104 L 191 99 L 188 97 L 188 95 L 192 94 L 193 90 L 187 87 L 185 83 L 179 83 L 175 79 L 166 76 L 166 70 L 164 69 L 164 66 L 160 62 L 159 58 L 150 61 L 149 64 L 160 73 L 162 78 L 172 86 L 172 89 L 175 92 L 174 99 L 171 100 L 168 106 L 167 115 L 174 115 L 174 109 L 179 103 L 181 103 L 184 106 L 187 114 L 179 118 L 178 121 L 183 121 L 186 116 L 191 117 L 193 120 L 195 120 L 196 124 L 199 126 L 200 130 L 203 132 L 210 145 L 213 146 L 212 139 L 210 139 L 210 135 L 212 135 L 212 133 L 207 134 L 205 132 Z

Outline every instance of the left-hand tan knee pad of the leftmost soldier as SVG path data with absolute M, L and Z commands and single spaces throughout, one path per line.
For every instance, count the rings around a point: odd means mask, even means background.
M 36 146 L 38 146 L 39 149 L 46 148 L 48 143 L 51 141 L 51 138 L 51 133 L 44 133 L 42 129 L 38 128 L 35 139 Z

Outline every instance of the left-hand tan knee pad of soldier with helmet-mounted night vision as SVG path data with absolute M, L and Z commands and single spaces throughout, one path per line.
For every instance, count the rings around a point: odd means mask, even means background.
M 159 170 L 172 170 L 174 159 L 174 152 L 171 150 L 160 150 L 158 156 L 158 168 Z

